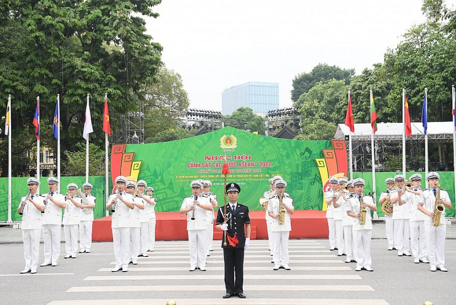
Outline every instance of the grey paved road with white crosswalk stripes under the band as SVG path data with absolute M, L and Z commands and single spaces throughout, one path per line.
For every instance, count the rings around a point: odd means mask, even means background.
M 448 235 L 455 238 L 454 228 Z M 384 225 L 374 225 L 372 268 L 355 272 L 329 251 L 327 240 L 292 240 L 291 270 L 273 270 L 267 241 L 252 241 L 246 251 L 244 292 L 247 298 L 222 299 L 223 255 L 219 241 L 207 260 L 207 271 L 188 272 L 186 241 L 157 242 L 149 257 L 130 265 L 127 273 L 111 273 L 114 266 L 112 243 L 94 243 L 90 254 L 75 259 L 61 257 L 55 267 L 39 267 L 35 275 L 19 275 L 23 247 L 19 229 L 1 228 L 0 294 L 2 303 L 49 305 L 166 304 L 314 304 L 314 305 L 403 305 L 454 304 L 456 283 L 456 241 L 445 243 L 448 273 L 429 271 L 429 264 L 414 264 L 410 257 L 387 251 Z M 62 234 L 63 236 L 63 234 Z M 40 246 L 43 254 L 43 245 Z M 40 262 L 43 261 L 43 255 Z

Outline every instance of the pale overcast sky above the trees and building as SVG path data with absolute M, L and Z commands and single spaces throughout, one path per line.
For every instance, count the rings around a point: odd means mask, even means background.
M 448 6 L 456 0 L 446 0 Z M 162 61 L 182 76 L 190 107 L 221 110 L 223 90 L 279 83 L 290 107 L 292 80 L 326 62 L 360 74 L 383 62 L 413 24 L 421 0 L 163 0 L 147 32 Z

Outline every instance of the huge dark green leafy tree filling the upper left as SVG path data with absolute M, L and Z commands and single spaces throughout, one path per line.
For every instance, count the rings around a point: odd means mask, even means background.
M 0 92 L 12 95 L 13 137 L 30 125 L 40 96 L 41 125 L 51 125 L 60 94 L 62 151 L 82 142 L 86 95 L 91 96 L 91 143 L 102 145 L 104 93 L 111 128 L 157 82 L 162 47 L 146 35 L 141 16 L 158 17 L 160 0 L 43 0 L 2 2 Z M 6 106 L 6 99 L 0 100 Z M 28 129 L 33 134 L 32 128 Z M 51 135 L 52 137 L 52 135 Z M 42 140 L 45 140 L 42 137 Z M 18 150 L 15 141 L 13 150 Z M 54 142 L 55 143 L 55 142 Z M 0 150 L 6 152 L 3 146 Z M 0 166 L 5 168 L 5 158 Z M 13 162 L 17 162 L 13 159 Z M 5 175 L 5 171 L 3 171 Z

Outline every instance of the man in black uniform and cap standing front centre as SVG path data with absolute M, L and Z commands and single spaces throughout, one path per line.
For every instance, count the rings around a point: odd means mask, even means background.
M 238 184 L 226 184 L 225 191 L 230 200 L 230 204 L 226 205 L 226 223 L 224 222 L 224 206 L 218 208 L 215 222 L 215 227 L 224 231 L 222 248 L 225 262 L 226 294 L 223 295 L 223 298 L 230 298 L 234 295 L 245 298 L 242 285 L 244 282 L 244 250 L 248 248 L 250 243 L 249 208 L 238 203 L 241 192 L 241 187 Z M 226 246 L 224 245 L 225 242 Z

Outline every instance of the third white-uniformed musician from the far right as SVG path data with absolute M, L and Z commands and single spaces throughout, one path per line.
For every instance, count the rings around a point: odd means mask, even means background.
M 410 246 L 408 239 L 410 236 L 410 226 L 408 218 L 410 217 L 410 204 L 411 200 L 407 200 L 408 194 L 405 193 L 404 184 L 405 177 L 403 175 L 394 176 L 396 186 L 399 191 L 391 194 L 391 201 L 393 202 L 393 223 L 394 223 L 394 241 L 397 247 L 397 256 L 411 256 Z M 404 197 L 404 198 L 402 198 Z

